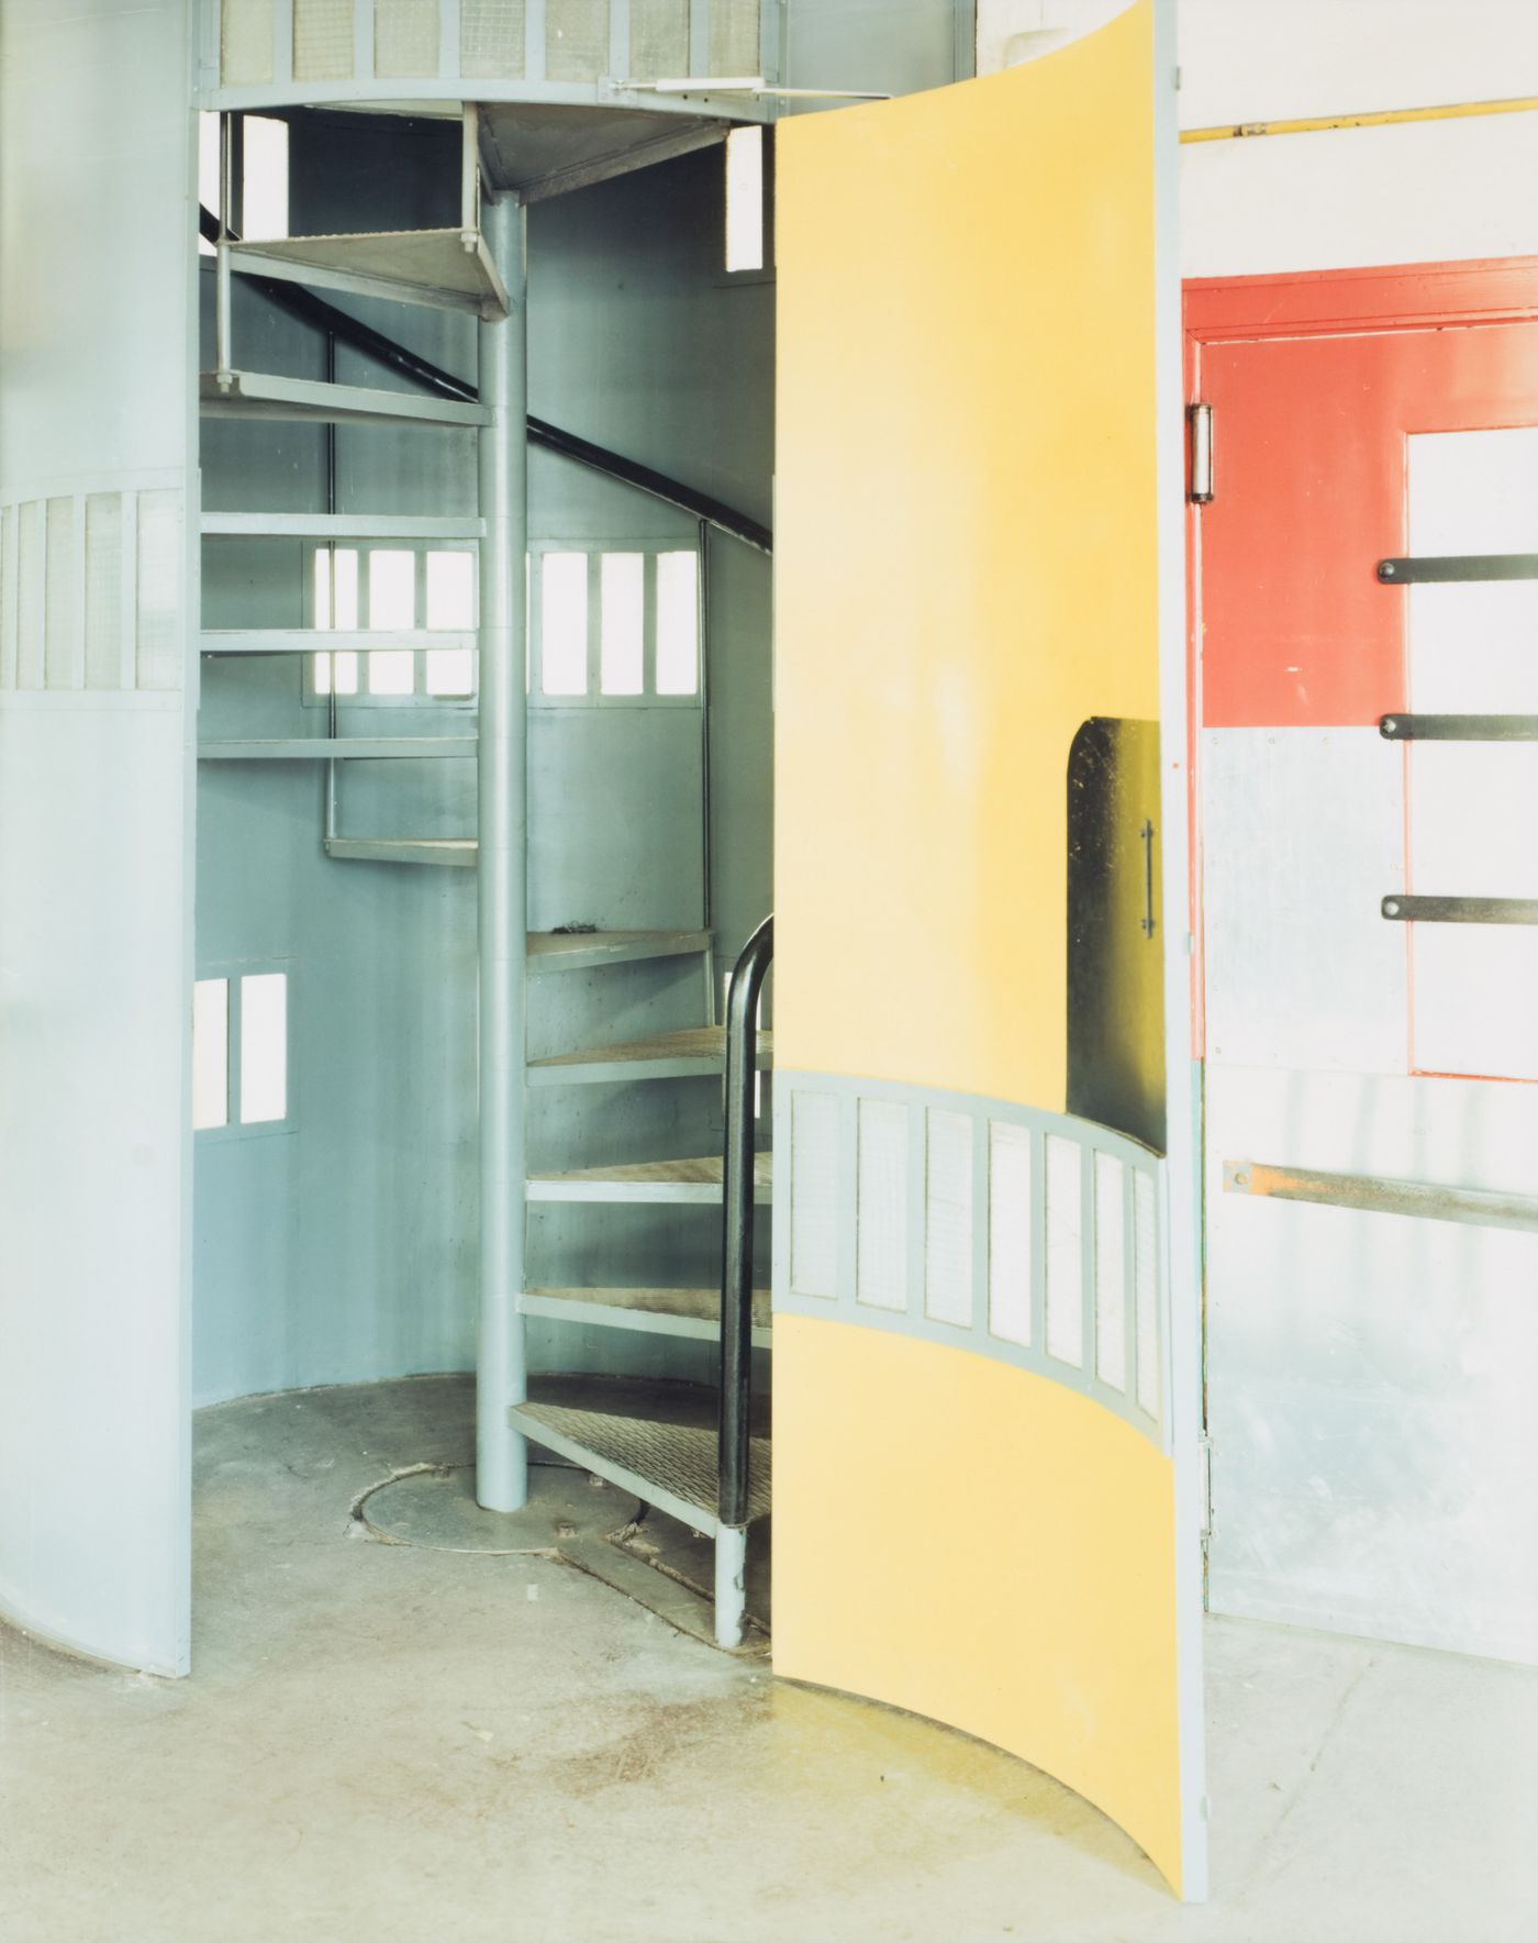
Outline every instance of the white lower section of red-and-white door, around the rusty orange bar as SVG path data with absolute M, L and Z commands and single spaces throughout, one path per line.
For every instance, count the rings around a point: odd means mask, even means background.
M 1208 1073 L 1212 1605 L 1538 1661 L 1538 1236 L 1225 1160 L 1534 1191 L 1538 1088 Z

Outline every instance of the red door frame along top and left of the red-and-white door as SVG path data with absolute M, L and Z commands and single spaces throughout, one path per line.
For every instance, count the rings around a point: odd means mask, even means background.
M 1202 398 L 1202 350 L 1218 342 L 1427 330 L 1538 319 L 1538 256 L 1385 264 L 1274 276 L 1200 276 L 1183 286 L 1185 396 Z M 1221 492 L 1221 449 L 1218 453 Z M 1206 1051 L 1202 929 L 1202 532 L 1187 499 L 1187 723 L 1190 734 L 1190 1005 L 1196 1057 Z

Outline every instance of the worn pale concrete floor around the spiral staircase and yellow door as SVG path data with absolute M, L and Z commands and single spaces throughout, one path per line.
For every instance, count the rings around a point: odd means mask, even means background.
M 421 1378 L 198 1420 L 196 1663 L 0 1628 L 4 1943 L 1530 1943 L 1538 1677 L 1210 1622 L 1214 1900 L 1066 1790 L 544 1558 L 373 1543 Z

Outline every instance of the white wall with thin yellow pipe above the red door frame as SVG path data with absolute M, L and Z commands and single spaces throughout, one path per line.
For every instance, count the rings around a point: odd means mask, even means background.
M 979 72 L 1120 0 L 979 0 Z M 1530 0 L 1179 0 L 1181 128 L 1538 95 Z M 1538 255 L 1538 113 L 1196 142 L 1187 276 Z

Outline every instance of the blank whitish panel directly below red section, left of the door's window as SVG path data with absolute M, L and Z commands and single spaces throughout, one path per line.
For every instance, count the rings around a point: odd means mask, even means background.
M 1202 734 L 1208 1059 L 1404 1073 L 1404 750 L 1377 729 Z

